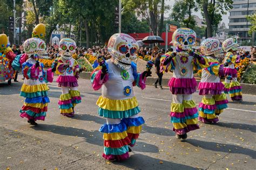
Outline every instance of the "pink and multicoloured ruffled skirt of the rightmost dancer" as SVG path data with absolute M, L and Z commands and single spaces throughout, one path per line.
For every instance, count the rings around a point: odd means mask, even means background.
M 233 101 L 242 100 L 242 87 L 237 81 L 237 69 L 234 68 L 224 68 L 224 73 L 226 76 L 232 76 L 233 80 L 225 79 L 224 91 L 226 94 L 230 94 Z

